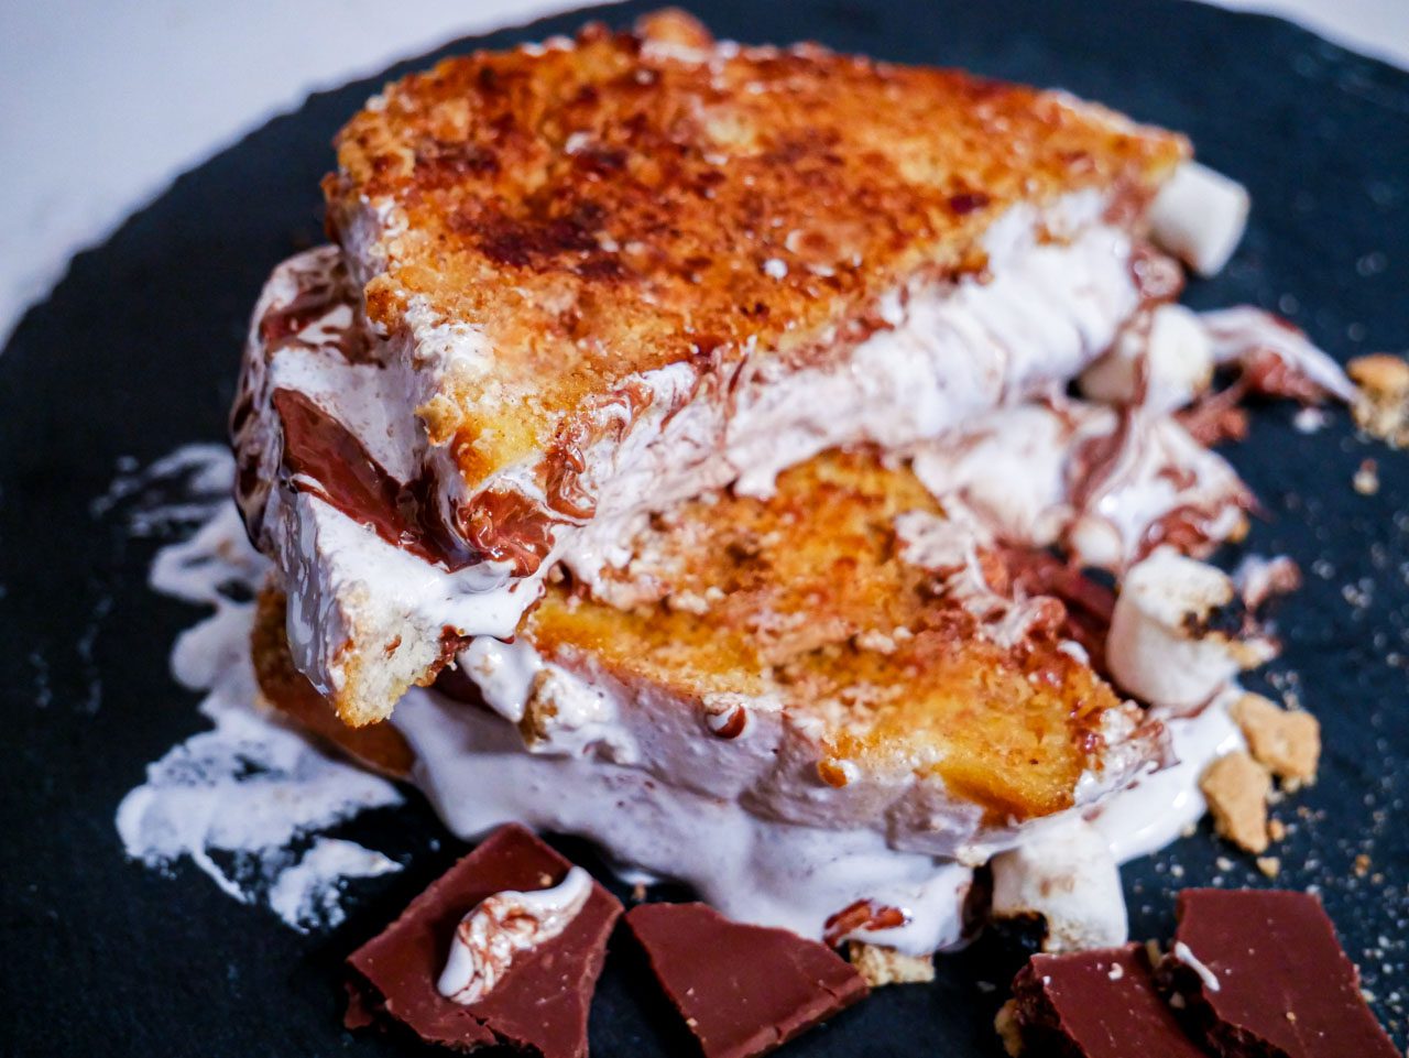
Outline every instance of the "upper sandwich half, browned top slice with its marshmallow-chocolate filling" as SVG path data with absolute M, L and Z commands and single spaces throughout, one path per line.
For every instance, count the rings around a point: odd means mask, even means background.
M 276 272 L 235 410 L 300 669 L 382 718 L 627 516 L 1065 383 L 1151 296 L 1144 209 L 1185 155 L 678 15 L 390 85 L 325 182 L 342 254 Z

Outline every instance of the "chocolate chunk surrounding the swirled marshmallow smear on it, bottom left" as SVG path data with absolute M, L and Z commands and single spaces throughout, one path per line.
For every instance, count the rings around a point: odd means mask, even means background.
M 495 893 L 555 886 L 571 866 L 523 827 L 496 830 L 352 954 L 347 1026 L 392 1019 L 458 1051 L 506 1044 L 544 1058 L 585 1055 L 588 1007 L 621 914 L 616 897 L 595 882 L 566 928 L 519 952 L 480 999 L 462 1006 L 437 988 L 466 911 Z

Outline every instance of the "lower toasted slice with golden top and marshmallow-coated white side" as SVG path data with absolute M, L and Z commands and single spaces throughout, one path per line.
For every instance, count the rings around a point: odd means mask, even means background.
M 1160 758 L 1062 603 L 1024 596 L 962 509 L 874 452 L 817 456 L 769 499 L 688 502 L 628 547 L 590 590 L 551 583 L 513 644 L 461 656 L 534 752 L 938 855 Z

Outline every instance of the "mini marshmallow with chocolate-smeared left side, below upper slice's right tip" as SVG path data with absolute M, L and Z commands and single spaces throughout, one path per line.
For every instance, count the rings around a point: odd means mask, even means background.
M 1081 376 L 1081 392 L 1112 404 L 1174 411 L 1213 380 L 1213 345 L 1198 314 L 1161 304 L 1126 327 Z

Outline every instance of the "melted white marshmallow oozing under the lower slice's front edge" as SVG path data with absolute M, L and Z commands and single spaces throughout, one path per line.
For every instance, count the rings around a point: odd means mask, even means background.
M 779 823 L 637 768 L 534 755 L 502 717 L 434 690 L 411 690 L 392 723 L 416 751 L 416 782 L 465 840 L 509 821 L 579 834 L 624 864 L 690 883 L 731 919 L 805 937 L 871 899 L 910 921 L 869 940 L 924 954 L 961 938 L 968 868 L 892 849 L 876 831 Z

